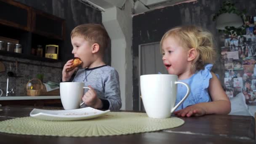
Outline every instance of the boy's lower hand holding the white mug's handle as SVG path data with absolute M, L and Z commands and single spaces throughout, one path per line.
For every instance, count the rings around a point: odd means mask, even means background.
M 96 91 L 88 85 L 90 90 L 88 90 L 85 95 L 83 95 L 82 100 L 85 102 L 85 104 L 89 107 L 93 107 L 95 109 L 100 109 L 103 107 L 101 100 L 97 97 Z

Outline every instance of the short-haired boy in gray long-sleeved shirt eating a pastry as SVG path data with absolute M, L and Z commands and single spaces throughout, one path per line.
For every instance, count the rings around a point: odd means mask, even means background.
M 82 69 L 76 67 L 67 72 L 74 60 L 67 61 L 62 70 L 62 81 L 84 82 L 91 88 L 84 94 L 81 107 L 118 110 L 122 106 L 118 73 L 103 61 L 109 41 L 106 29 L 100 24 L 82 24 L 71 32 L 72 53 L 82 61 Z

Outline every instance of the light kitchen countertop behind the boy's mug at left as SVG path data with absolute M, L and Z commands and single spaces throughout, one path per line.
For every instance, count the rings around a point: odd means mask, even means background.
M 60 96 L 1 96 L 0 101 L 33 100 L 33 99 L 61 99 Z

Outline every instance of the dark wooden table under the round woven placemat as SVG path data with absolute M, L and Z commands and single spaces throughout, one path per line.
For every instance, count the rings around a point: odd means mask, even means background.
M 34 108 L 56 107 L 5 106 L 0 107 L 0 121 L 27 117 Z M 131 112 L 131 111 L 129 111 Z M 121 136 L 58 137 L 0 133 L 0 144 L 256 144 L 255 120 L 251 116 L 205 115 L 183 117 L 184 125 L 163 131 Z

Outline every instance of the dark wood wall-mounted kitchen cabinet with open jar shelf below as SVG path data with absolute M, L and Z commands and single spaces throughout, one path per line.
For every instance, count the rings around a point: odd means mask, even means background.
M 18 41 L 22 45 L 22 53 L 0 50 L 0 55 L 57 62 L 60 59 L 45 58 L 45 45 L 59 45 L 61 51 L 64 46 L 65 20 L 14 0 L 0 0 L 1 37 Z M 32 53 L 37 45 L 42 45 L 43 57 Z

